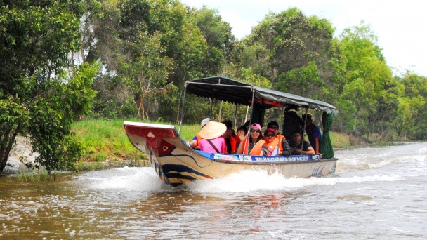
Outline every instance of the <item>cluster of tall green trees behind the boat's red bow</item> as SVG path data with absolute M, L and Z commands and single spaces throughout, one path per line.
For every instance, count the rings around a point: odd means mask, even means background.
M 125 116 L 114 109 L 133 103 L 134 111 L 125 112 L 140 119 L 164 116 L 159 106 L 168 105 L 166 121 L 176 120 L 183 81 L 219 72 L 234 41 L 217 11 L 179 1 L 101 1 L 91 9 L 82 58 L 103 60 L 107 69 L 94 86 L 100 116 Z

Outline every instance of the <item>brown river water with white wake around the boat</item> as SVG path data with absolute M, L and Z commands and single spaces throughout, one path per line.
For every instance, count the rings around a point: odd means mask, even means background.
M 337 150 L 336 173 L 174 189 L 152 168 L 0 177 L 0 239 L 426 239 L 427 142 Z

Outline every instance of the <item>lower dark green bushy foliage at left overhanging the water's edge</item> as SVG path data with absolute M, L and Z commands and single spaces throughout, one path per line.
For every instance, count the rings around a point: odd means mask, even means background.
M 70 79 L 61 74 L 49 81 L 44 86 L 46 92 L 32 102 L 29 129 L 32 152 L 39 153 L 35 162 L 48 171 L 72 170 L 81 156 L 80 143 L 70 134 L 70 125 L 80 114 L 87 113 L 95 97 L 90 87 L 98 67 L 87 64 L 73 67 Z

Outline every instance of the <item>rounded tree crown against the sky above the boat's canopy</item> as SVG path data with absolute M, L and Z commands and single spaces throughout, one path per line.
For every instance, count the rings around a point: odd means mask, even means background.
M 306 17 L 298 8 L 289 8 L 267 15 L 254 27 L 250 38 L 268 50 L 265 74 L 275 84 L 280 74 L 306 67 L 310 62 L 325 76 L 331 75 L 327 72 L 333 34 L 334 28 L 328 20 Z

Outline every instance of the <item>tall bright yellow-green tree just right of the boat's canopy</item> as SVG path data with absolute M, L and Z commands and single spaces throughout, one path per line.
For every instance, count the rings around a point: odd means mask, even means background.
M 356 135 L 375 133 L 378 139 L 394 135 L 393 124 L 398 109 L 399 86 L 391 76 L 376 36 L 369 25 L 345 29 L 341 34 L 346 85 L 339 96 L 339 106 L 348 111 L 337 120 L 351 124 L 344 129 Z

